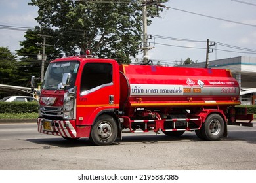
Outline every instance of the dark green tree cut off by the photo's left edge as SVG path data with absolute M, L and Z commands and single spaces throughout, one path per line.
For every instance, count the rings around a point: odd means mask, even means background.
M 7 47 L 0 47 L 0 84 L 14 84 L 18 78 L 17 59 Z

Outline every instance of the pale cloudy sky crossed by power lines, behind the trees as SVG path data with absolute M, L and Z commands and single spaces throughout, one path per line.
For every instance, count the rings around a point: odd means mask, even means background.
M 35 27 L 39 25 L 37 7 L 29 0 L 0 0 L 0 25 Z M 153 18 L 147 34 L 149 59 L 172 65 L 187 58 L 206 59 L 207 39 L 213 46 L 209 60 L 236 56 L 256 57 L 255 0 L 169 0 L 160 17 Z M 25 31 L 5 30 L 0 26 L 0 46 L 12 53 L 20 49 Z M 211 50 L 212 51 L 212 50 Z M 140 52 L 137 58 L 142 59 Z

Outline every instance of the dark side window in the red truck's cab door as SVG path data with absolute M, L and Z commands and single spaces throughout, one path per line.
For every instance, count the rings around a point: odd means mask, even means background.
M 81 93 L 103 84 L 112 83 L 112 65 L 109 63 L 87 63 L 81 77 Z

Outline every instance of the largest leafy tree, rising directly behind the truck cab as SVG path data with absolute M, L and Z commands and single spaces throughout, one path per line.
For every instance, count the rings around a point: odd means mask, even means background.
M 137 55 L 142 40 L 142 5 L 137 0 L 127 2 L 31 0 L 28 5 L 39 7 L 35 20 L 55 29 L 56 46 L 66 54 L 89 49 L 100 58 L 131 63 L 129 57 Z M 149 6 L 147 16 L 154 18 L 161 10 Z

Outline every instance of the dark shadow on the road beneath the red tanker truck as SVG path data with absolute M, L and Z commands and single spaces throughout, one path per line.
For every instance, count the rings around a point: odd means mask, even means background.
M 95 146 L 88 138 L 81 138 L 75 141 L 67 141 L 62 137 L 42 138 L 42 139 L 27 139 L 27 141 L 41 144 L 43 148 L 53 147 L 80 147 L 80 146 Z M 184 133 L 181 137 L 169 137 L 167 135 L 137 135 L 129 134 L 123 136 L 123 139 L 117 139 L 112 145 L 126 145 L 126 144 L 154 144 L 154 143 L 168 143 L 168 142 L 196 142 L 201 141 L 195 133 Z M 224 137 L 221 141 L 245 141 L 250 144 L 256 144 L 256 131 L 232 131 L 228 137 Z

